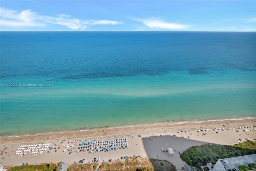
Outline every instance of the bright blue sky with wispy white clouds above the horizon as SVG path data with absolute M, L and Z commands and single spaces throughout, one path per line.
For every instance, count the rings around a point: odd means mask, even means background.
M 1 31 L 256 31 L 255 0 L 1 0 Z

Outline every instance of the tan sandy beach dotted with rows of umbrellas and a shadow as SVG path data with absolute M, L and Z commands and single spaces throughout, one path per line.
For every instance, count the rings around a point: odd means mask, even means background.
M 185 163 L 180 159 L 179 153 L 187 148 L 207 143 L 233 145 L 246 141 L 246 138 L 255 141 L 256 127 L 254 125 L 256 125 L 255 118 L 228 119 L 201 123 L 160 123 L 86 131 L 37 133 L 36 135 L 15 137 L 1 136 L 1 152 L 3 153 L 1 163 L 8 167 L 19 165 L 22 162 L 35 164 L 62 161 L 68 167 L 74 161 L 78 162 L 81 159 L 92 162 L 95 157 L 101 157 L 100 162 L 103 162 L 109 159 L 120 159 L 122 156 L 140 155 L 147 158 L 165 159 L 180 170 Z M 119 143 L 118 141 L 120 141 L 120 145 L 110 146 Z M 80 145 L 80 143 L 85 142 L 91 144 Z M 109 144 L 108 147 L 104 147 L 104 151 L 97 151 L 96 147 L 103 149 L 100 148 L 101 143 L 102 146 Z M 127 147 L 124 148 L 125 146 Z M 39 149 L 41 147 L 44 148 L 44 151 L 40 154 Z M 112 147 L 118 148 L 111 150 Z M 163 153 L 162 147 L 164 149 L 172 147 L 175 153 L 174 157 L 169 157 L 167 153 Z M 34 152 L 33 149 L 34 151 L 38 149 L 38 153 L 32 153 Z M 23 154 L 18 153 L 19 150 Z M 26 150 L 25 155 L 24 150 Z M 72 151 L 71 154 L 69 154 L 70 151 Z M 15 153 L 19 155 L 14 155 Z

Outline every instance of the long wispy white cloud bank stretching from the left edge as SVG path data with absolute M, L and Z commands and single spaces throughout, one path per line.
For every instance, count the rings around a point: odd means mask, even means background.
M 122 24 L 122 22 L 110 20 L 79 20 L 71 18 L 67 14 L 58 14 L 57 17 L 38 15 L 32 10 L 14 11 L 6 8 L 0 8 L 1 26 L 10 27 L 43 27 L 47 23 L 66 26 L 70 29 L 84 29 L 87 25 L 95 24 Z

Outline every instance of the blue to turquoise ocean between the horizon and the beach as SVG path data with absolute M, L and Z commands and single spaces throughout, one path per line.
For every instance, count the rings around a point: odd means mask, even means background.
M 256 117 L 256 32 L 0 32 L 0 133 Z

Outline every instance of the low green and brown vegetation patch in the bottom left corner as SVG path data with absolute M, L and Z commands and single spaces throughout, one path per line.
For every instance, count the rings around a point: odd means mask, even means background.
M 54 163 L 43 163 L 40 165 L 22 165 L 10 167 L 8 171 L 58 171 L 60 166 Z

